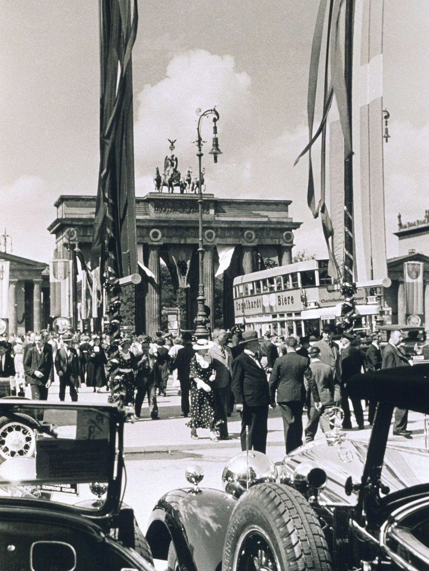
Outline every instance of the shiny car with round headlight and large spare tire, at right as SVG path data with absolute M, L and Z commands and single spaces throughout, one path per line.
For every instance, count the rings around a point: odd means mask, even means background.
M 189 468 L 192 487 L 153 509 L 153 557 L 168 571 L 428 570 L 429 453 L 387 440 L 394 407 L 429 413 L 429 366 L 358 375 L 348 388 L 379 403 L 368 444 L 334 428 L 279 470 L 242 452 L 225 492 L 199 488 L 203 471 Z

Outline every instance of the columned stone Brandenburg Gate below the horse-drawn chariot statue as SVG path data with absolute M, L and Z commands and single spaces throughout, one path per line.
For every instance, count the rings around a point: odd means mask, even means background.
M 233 324 L 232 282 L 269 265 L 292 261 L 293 231 L 301 226 L 289 216 L 291 200 L 238 200 L 204 194 L 204 287 L 213 308 L 215 275 L 223 275 L 224 325 Z M 62 195 L 55 202 L 56 218 L 48 227 L 55 235 L 56 258 L 67 258 L 66 232 L 77 230 L 76 241 L 90 260 L 95 196 Z M 136 198 L 137 257 L 143 279 L 136 287 L 136 329 L 153 335 L 161 323 L 161 260 L 173 283 L 187 282 L 187 328 L 195 328 L 198 293 L 198 204 L 195 194 L 151 192 Z M 147 270 L 153 278 L 147 275 Z M 59 294 L 57 294 L 59 295 Z M 51 308 L 60 307 L 51 288 Z M 58 312 L 58 309 L 56 310 Z M 63 309 L 63 311 L 66 311 Z M 213 311 L 211 315 L 213 326 Z M 68 317 L 69 315 L 63 315 Z

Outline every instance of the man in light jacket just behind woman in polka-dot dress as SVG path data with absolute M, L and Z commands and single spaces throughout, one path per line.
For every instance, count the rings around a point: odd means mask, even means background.
M 226 394 L 230 379 L 232 377 L 232 352 L 226 347 L 225 329 L 213 329 L 213 347 L 208 353 L 212 357 L 213 368 L 216 372 L 216 379 L 211 387 L 215 397 L 217 416 L 223 423 L 219 427 L 219 440 L 228 440 L 228 417 Z

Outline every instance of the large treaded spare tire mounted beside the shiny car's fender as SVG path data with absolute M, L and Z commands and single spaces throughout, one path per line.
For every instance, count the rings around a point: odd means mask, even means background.
M 222 571 L 331 571 L 314 510 L 281 484 L 258 484 L 238 500 L 226 531 Z

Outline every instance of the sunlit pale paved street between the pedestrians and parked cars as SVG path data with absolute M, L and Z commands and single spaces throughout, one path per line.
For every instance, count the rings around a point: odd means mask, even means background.
M 50 401 L 58 401 L 58 384 L 50 389 Z M 66 401 L 70 397 L 66 396 Z M 93 393 L 85 385 L 79 389 L 79 402 L 102 404 L 107 401 L 107 393 Z M 191 440 L 190 429 L 185 426 L 189 419 L 180 416 L 180 397 L 177 390 L 167 388 L 167 397 L 159 397 L 159 416 L 161 420 L 149 419 L 147 403 L 142 409 L 143 420 L 128 424 L 125 430 L 125 452 L 127 468 L 127 488 L 125 501 L 133 507 L 137 521 L 143 530 L 153 505 L 158 498 L 173 488 L 187 486 L 185 469 L 190 464 L 199 464 L 204 468 L 203 485 L 222 489 L 222 470 L 226 462 L 240 452 L 240 415 L 233 413 L 228 428 L 231 440 L 213 443 L 209 432 L 199 429 L 199 440 Z M 354 419 L 353 419 L 354 422 Z M 392 441 L 402 445 L 424 447 L 423 415 L 410 414 L 408 428 L 413 431 L 413 439 L 391 436 Z M 370 429 L 348 431 L 353 438 L 366 441 Z M 319 431 L 318 438 L 323 438 Z M 267 455 L 275 463 L 285 456 L 284 436 L 280 412 L 270 410 L 268 421 Z M 157 569 L 165 565 L 157 564 Z

